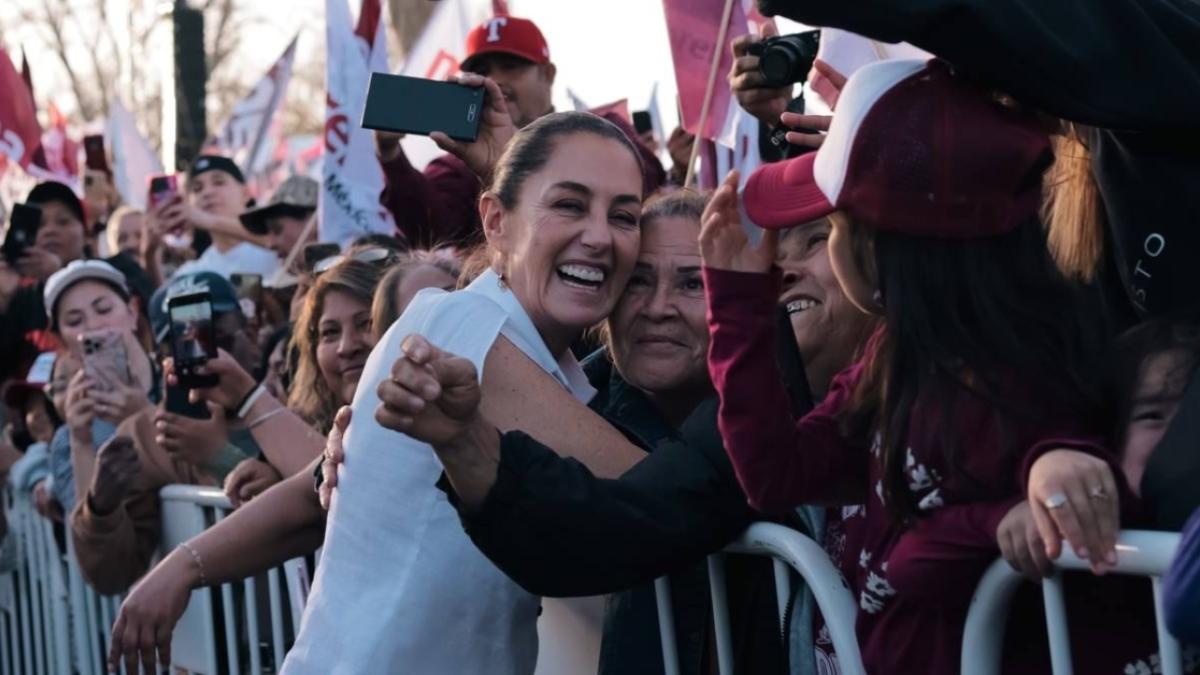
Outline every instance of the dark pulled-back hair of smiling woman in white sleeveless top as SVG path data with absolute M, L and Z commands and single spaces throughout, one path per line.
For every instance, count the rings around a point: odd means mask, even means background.
M 518 131 L 496 165 L 490 191 L 505 209 L 516 208 L 521 186 L 546 166 L 554 153 L 554 142 L 574 133 L 593 133 L 620 143 L 634 157 L 641 175 L 642 155 L 617 125 L 592 113 L 551 113 Z

